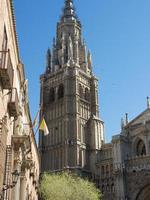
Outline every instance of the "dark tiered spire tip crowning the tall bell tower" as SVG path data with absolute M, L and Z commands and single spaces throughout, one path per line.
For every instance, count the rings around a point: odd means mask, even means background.
M 65 6 L 63 9 L 63 15 L 61 17 L 61 21 L 63 22 L 78 21 L 78 17 L 75 13 L 75 8 L 73 5 L 73 0 L 65 0 Z

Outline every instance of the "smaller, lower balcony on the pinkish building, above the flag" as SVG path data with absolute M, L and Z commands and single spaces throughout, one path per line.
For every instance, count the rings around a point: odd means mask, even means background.
M 11 117 L 17 117 L 19 114 L 19 99 L 17 89 L 13 88 L 8 103 L 8 111 Z

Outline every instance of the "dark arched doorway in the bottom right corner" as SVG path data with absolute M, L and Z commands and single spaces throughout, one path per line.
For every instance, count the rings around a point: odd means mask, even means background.
M 145 186 L 137 195 L 136 200 L 150 199 L 150 185 Z

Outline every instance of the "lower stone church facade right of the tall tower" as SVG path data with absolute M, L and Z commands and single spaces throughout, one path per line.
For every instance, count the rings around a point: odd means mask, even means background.
M 105 200 L 148 200 L 150 196 L 150 107 L 97 155 L 95 180 Z

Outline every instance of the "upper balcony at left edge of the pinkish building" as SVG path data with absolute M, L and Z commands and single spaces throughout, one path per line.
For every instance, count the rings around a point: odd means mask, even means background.
M 0 51 L 0 78 L 3 89 L 13 87 L 14 71 L 10 58 L 10 51 Z

